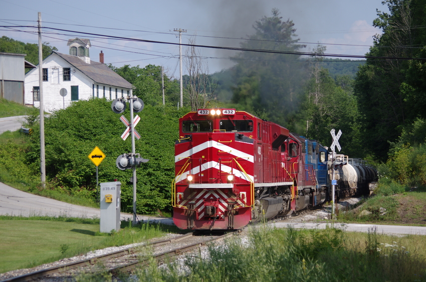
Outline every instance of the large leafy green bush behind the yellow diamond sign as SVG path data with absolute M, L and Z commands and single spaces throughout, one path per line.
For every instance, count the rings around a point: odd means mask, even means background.
M 139 113 L 141 119 L 136 130 L 142 137 L 135 141 L 135 149 L 149 162 L 137 168 L 138 213 L 169 209 L 178 119 L 187 111 L 186 108 L 145 105 Z M 123 114 L 130 120 L 128 109 Z M 37 117 L 32 116 L 31 121 L 37 122 Z M 125 128 L 106 99 L 77 101 L 46 118 L 47 189 L 96 202 L 96 166 L 88 155 L 98 146 L 106 155 L 98 166 L 99 182 L 120 181 L 122 211 L 131 212 L 132 170 L 119 170 L 115 163 L 120 154 L 131 152 L 131 138 L 125 141 L 120 138 Z M 11 183 L 15 179 L 22 185 L 39 183 L 40 188 L 39 127 L 34 126 L 34 133 L 25 138 L 19 144 L 10 142 L 0 148 L 0 180 Z

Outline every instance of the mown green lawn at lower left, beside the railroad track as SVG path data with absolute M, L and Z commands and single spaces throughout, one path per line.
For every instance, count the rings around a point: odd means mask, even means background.
M 99 233 L 99 219 L 82 223 L 82 219 L 78 218 L 9 218 L 0 216 L 0 273 L 34 267 L 94 249 L 143 242 L 174 231 L 172 226 L 142 224 L 132 227 L 130 222 L 122 221 L 119 232 L 105 234 Z

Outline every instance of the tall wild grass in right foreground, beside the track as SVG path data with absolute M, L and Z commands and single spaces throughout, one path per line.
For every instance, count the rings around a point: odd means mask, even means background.
M 253 229 L 203 255 L 137 272 L 141 281 L 424 281 L 426 260 L 370 232 L 362 243 L 338 229 Z M 134 277 L 132 277 L 134 279 Z M 129 279 L 130 280 L 130 279 Z

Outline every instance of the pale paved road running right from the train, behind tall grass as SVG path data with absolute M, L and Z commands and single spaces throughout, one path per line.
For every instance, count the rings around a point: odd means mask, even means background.
M 331 227 L 330 223 L 296 223 L 296 222 L 275 222 L 270 223 L 271 226 L 278 228 L 284 228 L 292 226 L 296 229 L 325 229 L 327 226 Z M 356 223 L 334 223 L 335 228 L 339 228 L 345 231 L 355 232 L 368 232 L 375 229 L 377 234 L 389 234 L 389 235 L 402 235 L 402 234 L 414 234 L 414 235 L 426 235 L 426 227 L 420 226 L 397 226 L 397 225 L 378 225 L 378 224 L 356 224 Z

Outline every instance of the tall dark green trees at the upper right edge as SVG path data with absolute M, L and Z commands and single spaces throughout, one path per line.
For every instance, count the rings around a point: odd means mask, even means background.
M 386 0 L 390 13 L 377 11 L 373 26 L 383 30 L 374 37 L 368 56 L 425 58 L 425 0 Z M 413 48 L 414 47 L 414 48 Z M 363 116 L 365 144 L 384 160 L 389 141 L 394 142 L 404 126 L 425 117 L 424 61 L 367 59 L 355 81 L 355 95 Z

